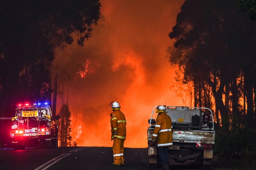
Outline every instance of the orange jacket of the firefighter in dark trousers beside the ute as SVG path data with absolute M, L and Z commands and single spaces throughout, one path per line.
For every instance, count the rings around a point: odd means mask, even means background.
M 165 112 L 159 113 L 152 139 L 157 139 L 157 146 L 173 145 L 173 125 L 170 116 Z

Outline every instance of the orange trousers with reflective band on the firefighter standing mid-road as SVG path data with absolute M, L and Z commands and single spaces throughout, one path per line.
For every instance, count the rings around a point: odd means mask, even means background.
M 114 137 L 113 143 L 113 156 L 114 164 L 123 165 L 124 164 L 124 140 Z

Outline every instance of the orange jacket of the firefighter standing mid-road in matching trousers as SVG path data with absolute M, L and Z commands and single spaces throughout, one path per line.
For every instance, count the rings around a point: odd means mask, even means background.
M 120 110 L 114 110 L 110 117 L 111 123 L 111 140 L 114 137 L 119 139 L 126 139 L 126 119 L 124 114 Z M 117 132 L 115 135 L 114 132 Z

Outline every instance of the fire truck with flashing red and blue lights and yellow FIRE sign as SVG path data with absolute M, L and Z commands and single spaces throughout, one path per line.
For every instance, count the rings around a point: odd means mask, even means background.
M 53 120 L 47 103 L 19 105 L 15 111 L 10 130 L 11 142 L 15 150 L 25 149 L 28 142 L 41 142 L 46 148 L 58 147 L 59 116 Z

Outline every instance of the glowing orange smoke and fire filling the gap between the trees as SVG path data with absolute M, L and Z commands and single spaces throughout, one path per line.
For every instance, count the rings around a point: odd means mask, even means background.
M 68 85 L 71 136 L 78 146 L 112 146 L 109 104 L 118 101 L 127 119 L 125 147 L 146 148 L 154 106 L 182 105 L 170 89 L 175 69 L 166 49 L 174 42 L 168 33 L 183 1 L 100 3 L 102 16 L 89 41 L 67 47 L 72 60 L 87 66 L 83 78 L 73 77 Z

